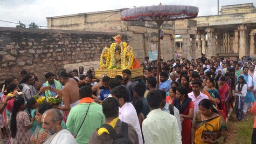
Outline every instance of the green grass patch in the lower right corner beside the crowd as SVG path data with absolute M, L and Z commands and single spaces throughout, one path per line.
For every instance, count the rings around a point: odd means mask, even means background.
M 247 114 L 242 121 L 236 120 L 235 113 L 229 117 L 228 139 L 225 144 L 251 144 L 254 116 Z

